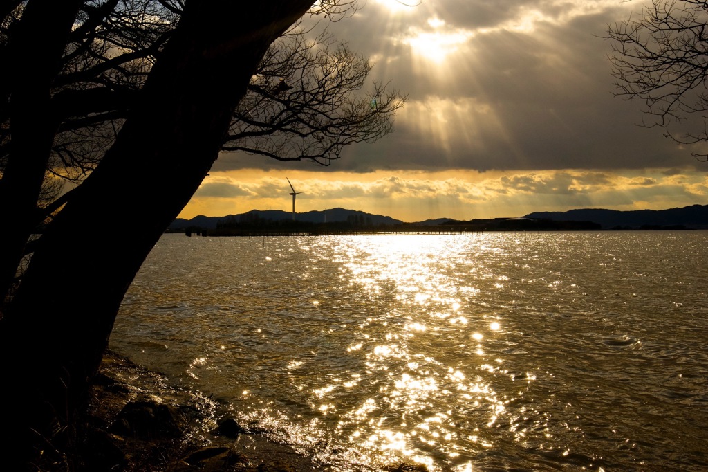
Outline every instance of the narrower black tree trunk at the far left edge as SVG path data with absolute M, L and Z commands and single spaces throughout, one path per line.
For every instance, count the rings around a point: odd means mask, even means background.
M 0 113 L 11 118 L 12 141 L 0 184 L 0 221 L 4 225 L 0 305 L 23 257 L 25 242 L 38 224 L 35 208 L 56 132 L 50 89 L 81 3 L 30 1 L 4 51 L 6 70 L 12 72 L 0 78 Z

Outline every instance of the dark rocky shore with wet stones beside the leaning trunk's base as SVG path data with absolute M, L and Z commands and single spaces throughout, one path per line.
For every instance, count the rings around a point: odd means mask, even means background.
M 158 373 L 112 352 L 104 356 L 92 390 L 89 425 L 82 463 L 61 468 L 92 472 L 426 471 L 400 463 L 382 469 L 338 460 L 324 463 L 299 454 L 279 442 L 273 432 L 239 425 L 223 405 L 199 393 L 173 388 Z M 336 457 L 336 451 L 325 456 Z

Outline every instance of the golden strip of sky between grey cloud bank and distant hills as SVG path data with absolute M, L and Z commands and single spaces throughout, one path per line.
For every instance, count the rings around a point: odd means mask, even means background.
M 516 217 L 572 208 L 661 209 L 708 203 L 708 174 L 667 169 L 534 172 L 450 169 L 438 172 L 212 172 L 182 218 L 292 208 L 348 208 L 407 222 L 433 218 Z

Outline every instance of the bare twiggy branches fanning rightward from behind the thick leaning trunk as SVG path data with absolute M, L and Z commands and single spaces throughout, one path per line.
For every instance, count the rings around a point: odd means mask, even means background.
M 346 145 L 391 133 L 406 97 L 373 84 L 371 66 L 326 31 L 282 36 L 263 58 L 234 113 L 227 151 L 329 165 Z

